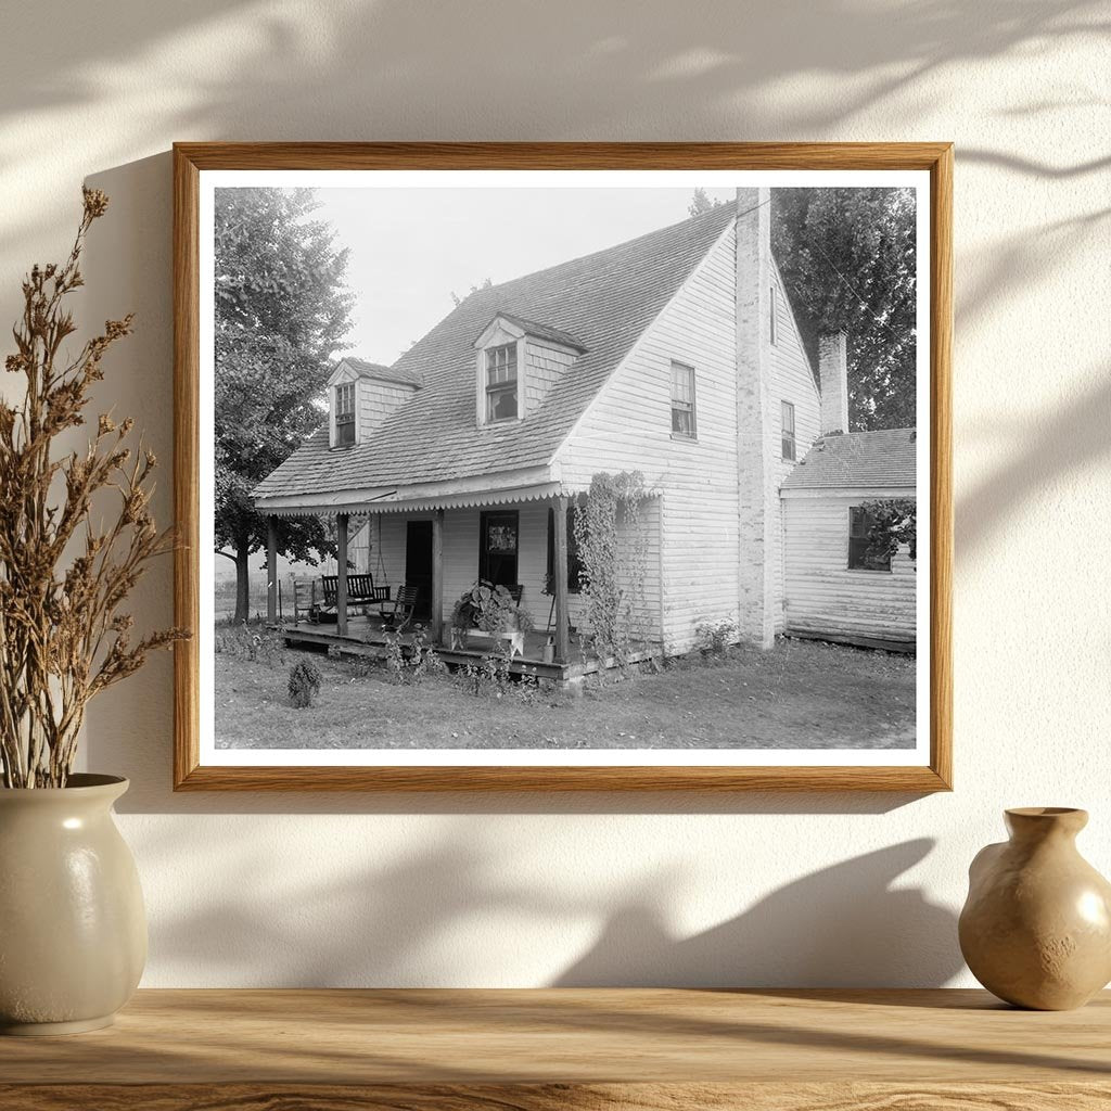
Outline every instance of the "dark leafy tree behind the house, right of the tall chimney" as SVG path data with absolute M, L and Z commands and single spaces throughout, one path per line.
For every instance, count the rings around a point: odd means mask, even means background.
M 811 358 L 849 336 L 853 430 L 915 423 L 915 226 L 909 189 L 773 189 L 772 250 Z

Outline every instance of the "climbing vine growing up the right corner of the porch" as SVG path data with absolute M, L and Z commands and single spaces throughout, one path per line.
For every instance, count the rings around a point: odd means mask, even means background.
M 649 496 L 640 471 L 600 471 L 573 518 L 590 639 L 599 655 L 620 661 L 629 658 L 633 641 L 643 639 L 648 537 L 642 510 Z

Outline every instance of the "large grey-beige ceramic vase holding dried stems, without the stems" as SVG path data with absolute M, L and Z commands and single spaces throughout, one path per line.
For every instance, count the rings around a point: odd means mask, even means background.
M 147 961 L 139 874 L 112 819 L 126 779 L 0 789 L 0 1031 L 111 1023 Z

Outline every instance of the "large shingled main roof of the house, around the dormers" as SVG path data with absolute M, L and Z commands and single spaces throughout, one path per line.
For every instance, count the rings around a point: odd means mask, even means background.
M 733 206 L 604 251 L 480 289 L 389 368 L 424 383 L 363 442 L 329 450 L 321 428 L 254 490 L 256 498 L 357 490 L 540 467 L 733 219 Z M 474 339 L 499 313 L 585 346 L 539 409 L 476 422 Z M 531 327 L 531 326 L 530 326 Z M 561 341 L 562 342 L 562 341 Z

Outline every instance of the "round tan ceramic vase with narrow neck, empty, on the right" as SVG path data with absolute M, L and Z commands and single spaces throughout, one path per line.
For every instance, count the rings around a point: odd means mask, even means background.
M 1077 851 L 1088 813 L 1008 810 L 1011 839 L 969 869 L 961 952 L 992 994 L 1039 1011 L 1082 1007 L 1111 981 L 1111 883 Z

